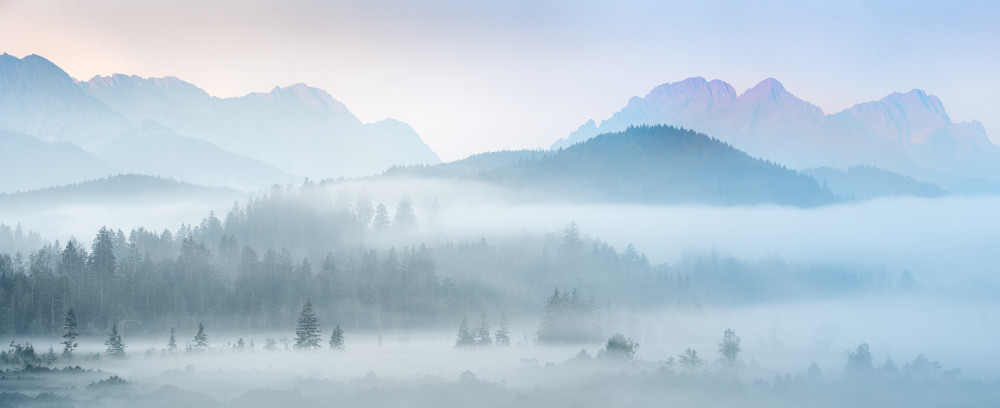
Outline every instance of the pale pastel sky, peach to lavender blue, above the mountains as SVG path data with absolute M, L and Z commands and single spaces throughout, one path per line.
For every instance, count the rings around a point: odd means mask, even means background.
M 0 51 L 212 95 L 304 82 L 442 159 L 548 147 L 692 76 L 826 113 L 923 89 L 1000 142 L 1000 2 L 0 0 Z

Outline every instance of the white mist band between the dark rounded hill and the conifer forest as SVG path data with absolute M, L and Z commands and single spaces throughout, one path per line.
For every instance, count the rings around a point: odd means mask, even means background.
M 890 197 L 816 208 L 650 206 L 551 203 L 472 181 L 421 179 L 337 183 L 332 196 L 363 193 L 390 208 L 401 197 L 421 216 L 419 240 L 477 240 L 561 231 L 570 222 L 585 234 L 651 262 L 716 251 L 742 259 L 880 265 L 909 270 L 933 284 L 1000 278 L 1000 197 Z M 408 237 L 413 240 L 413 237 Z M 996 293 L 996 292 L 994 292 Z

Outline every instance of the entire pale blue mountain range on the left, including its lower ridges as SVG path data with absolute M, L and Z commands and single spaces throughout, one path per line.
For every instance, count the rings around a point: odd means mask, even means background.
M 37 55 L 0 55 L 0 130 L 43 142 L 4 152 L 24 161 L 46 163 L 68 154 L 64 143 L 71 143 L 92 156 L 85 161 L 103 162 L 63 182 L 141 172 L 253 189 L 440 162 L 405 123 L 362 123 L 328 93 L 304 84 L 217 98 L 173 77 L 77 81 Z M 42 152 L 48 148 L 62 151 Z M 31 176 L 25 173 L 17 188 L 50 185 L 32 183 Z

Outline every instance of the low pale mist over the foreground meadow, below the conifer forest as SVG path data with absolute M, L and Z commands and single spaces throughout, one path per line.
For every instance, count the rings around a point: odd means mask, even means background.
M 12 406 L 991 406 L 1000 396 L 984 350 L 997 304 L 911 296 L 799 302 L 723 310 L 642 311 L 622 331 L 634 358 L 604 342 L 459 348 L 449 331 L 348 332 L 343 351 L 298 351 L 295 334 L 215 333 L 203 351 L 168 352 L 160 338 L 126 336 L 128 356 L 81 339 L 54 368 L 10 367 L 0 402 Z M 512 337 L 530 337 L 530 321 Z M 740 338 L 734 365 L 723 330 Z M 192 342 L 179 330 L 178 342 Z M 327 330 L 328 332 L 328 330 Z M 265 349 L 266 339 L 277 345 Z M 244 346 L 237 348 L 237 340 Z M 37 339 L 36 348 L 47 343 Z M 253 346 L 250 346 L 253 341 Z M 870 345 L 871 368 L 849 363 Z M 53 344 L 58 348 L 58 344 Z M 251 348 L 252 347 L 252 348 Z M 696 363 L 682 355 L 691 349 Z M 891 359 L 894 363 L 887 362 Z M 815 365 L 814 365 L 815 364 Z M 40 367 L 41 366 L 41 367 Z M 81 371 L 82 370 L 82 371 Z M 916 404 L 916 405 L 915 405 Z

